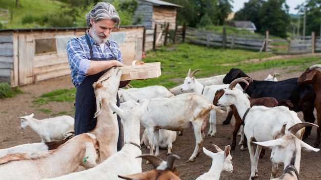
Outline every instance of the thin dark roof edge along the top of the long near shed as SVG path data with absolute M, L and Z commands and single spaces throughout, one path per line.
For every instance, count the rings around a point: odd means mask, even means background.
M 143 28 L 143 25 L 133 25 L 133 26 L 120 26 L 119 28 L 126 28 L 126 29 L 130 29 L 130 28 Z M 1 32 L 19 32 L 19 31 L 69 31 L 69 30 L 73 30 L 73 31 L 86 31 L 87 29 L 89 29 L 88 27 L 64 27 L 64 28 L 17 28 L 17 29 L 0 29 L 0 33 Z M 117 31 L 117 28 L 115 28 L 115 31 Z

